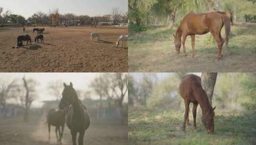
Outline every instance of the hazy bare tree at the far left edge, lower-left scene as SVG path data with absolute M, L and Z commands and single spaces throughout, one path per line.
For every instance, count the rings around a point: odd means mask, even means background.
M 7 100 L 12 98 L 11 89 L 15 87 L 15 80 L 11 82 L 1 81 L 0 85 L 0 105 L 3 107 L 4 117 L 6 117 Z

